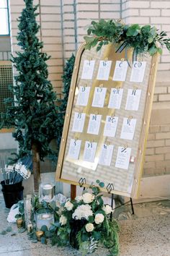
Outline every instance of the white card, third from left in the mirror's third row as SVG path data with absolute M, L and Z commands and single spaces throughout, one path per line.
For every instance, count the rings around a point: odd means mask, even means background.
M 115 137 L 117 124 L 118 124 L 118 116 L 107 116 L 106 122 L 104 125 L 104 136 Z

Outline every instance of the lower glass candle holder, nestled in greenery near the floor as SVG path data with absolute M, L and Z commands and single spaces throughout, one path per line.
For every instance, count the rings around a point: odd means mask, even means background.
M 51 224 L 54 223 L 54 214 L 44 210 L 44 213 L 35 213 L 37 230 L 40 230 L 42 226 L 50 228 Z

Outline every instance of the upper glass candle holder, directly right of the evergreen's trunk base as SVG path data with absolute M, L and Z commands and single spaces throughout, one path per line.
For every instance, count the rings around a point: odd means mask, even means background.
M 40 184 L 40 200 L 45 202 L 51 202 L 55 197 L 55 184 L 53 183 L 42 183 Z

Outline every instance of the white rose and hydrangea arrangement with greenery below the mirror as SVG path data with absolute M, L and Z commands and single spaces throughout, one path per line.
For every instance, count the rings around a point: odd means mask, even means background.
M 60 244 L 71 244 L 82 253 L 94 252 L 98 244 L 118 255 L 118 224 L 110 220 L 112 208 L 104 205 L 99 187 L 91 187 L 92 194 L 84 191 L 75 200 L 68 200 L 61 211 L 56 234 Z

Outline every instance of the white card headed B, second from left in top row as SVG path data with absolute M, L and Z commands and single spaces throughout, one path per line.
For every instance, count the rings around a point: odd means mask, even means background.
M 97 72 L 97 80 L 109 80 L 109 71 L 112 61 L 99 61 L 99 69 Z

